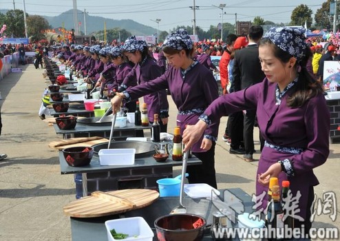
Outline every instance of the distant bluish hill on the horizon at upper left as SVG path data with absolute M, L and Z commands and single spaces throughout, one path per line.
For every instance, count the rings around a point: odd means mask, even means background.
M 6 14 L 8 10 L 0 9 L 0 12 Z M 52 28 L 61 28 L 64 23 L 64 27 L 67 30 L 71 30 L 74 28 L 73 25 L 73 10 L 68 10 L 63 12 L 59 16 L 49 17 L 43 16 L 48 23 L 52 26 Z M 109 30 L 111 28 L 123 28 L 133 35 L 151 35 L 155 34 L 157 30 L 155 28 L 151 28 L 147 25 L 143 25 L 133 21 L 131 19 L 123 19 L 123 20 L 114 20 L 114 19 L 105 19 L 103 17 L 91 16 L 89 14 L 85 14 L 86 17 L 86 32 L 87 34 L 91 34 L 92 32 L 98 32 L 100 30 L 104 30 L 104 22 L 106 21 L 106 29 Z M 78 21 L 81 22 L 81 31 L 84 32 L 84 14 L 83 11 L 78 10 Z

